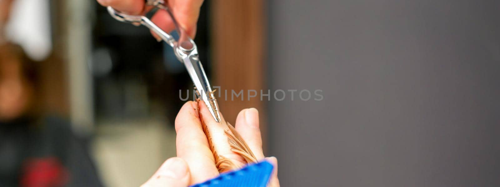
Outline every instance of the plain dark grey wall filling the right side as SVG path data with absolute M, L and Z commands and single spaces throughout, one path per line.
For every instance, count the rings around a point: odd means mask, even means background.
M 500 186 L 499 0 L 271 0 L 283 187 Z M 287 96 L 289 92 L 287 92 Z

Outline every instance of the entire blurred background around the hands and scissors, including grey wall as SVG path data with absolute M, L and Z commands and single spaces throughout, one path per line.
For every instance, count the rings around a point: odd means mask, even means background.
M 283 187 L 494 187 L 499 8 L 205 0 L 195 42 L 212 86 L 270 91 L 219 105 L 259 110 Z M 136 187 L 175 156 L 192 83 L 148 29 L 95 0 L 0 0 L 0 18 L 0 187 Z

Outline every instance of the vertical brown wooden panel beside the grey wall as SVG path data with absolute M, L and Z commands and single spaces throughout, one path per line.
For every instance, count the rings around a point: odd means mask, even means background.
M 264 0 L 211 0 L 210 5 L 212 76 L 215 80 L 212 86 L 220 86 L 221 113 L 232 124 L 239 111 L 256 108 L 265 151 L 266 101 L 260 101 L 260 90 L 267 94 Z M 224 99 L 225 90 L 227 100 Z M 243 101 L 240 98 L 231 101 L 231 90 L 243 90 Z M 256 90 L 257 96 L 248 100 L 248 90 Z

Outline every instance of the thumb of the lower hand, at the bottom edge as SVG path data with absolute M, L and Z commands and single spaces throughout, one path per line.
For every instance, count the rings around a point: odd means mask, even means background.
M 189 184 L 189 168 L 187 163 L 178 157 L 166 160 L 141 187 L 187 187 Z

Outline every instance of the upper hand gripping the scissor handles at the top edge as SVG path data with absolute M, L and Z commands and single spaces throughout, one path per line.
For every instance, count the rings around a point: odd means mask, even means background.
M 111 6 L 123 13 L 138 15 L 144 8 L 144 0 L 97 0 L 103 6 Z M 173 14 L 184 30 L 194 38 L 196 34 L 196 22 L 198 21 L 199 8 L 203 0 L 165 0 L 172 8 Z M 156 25 L 165 31 L 174 29 L 172 21 L 164 10 L 157 11 L 151 18 Z M 153 36 L 159 37 L 153 33 Z

